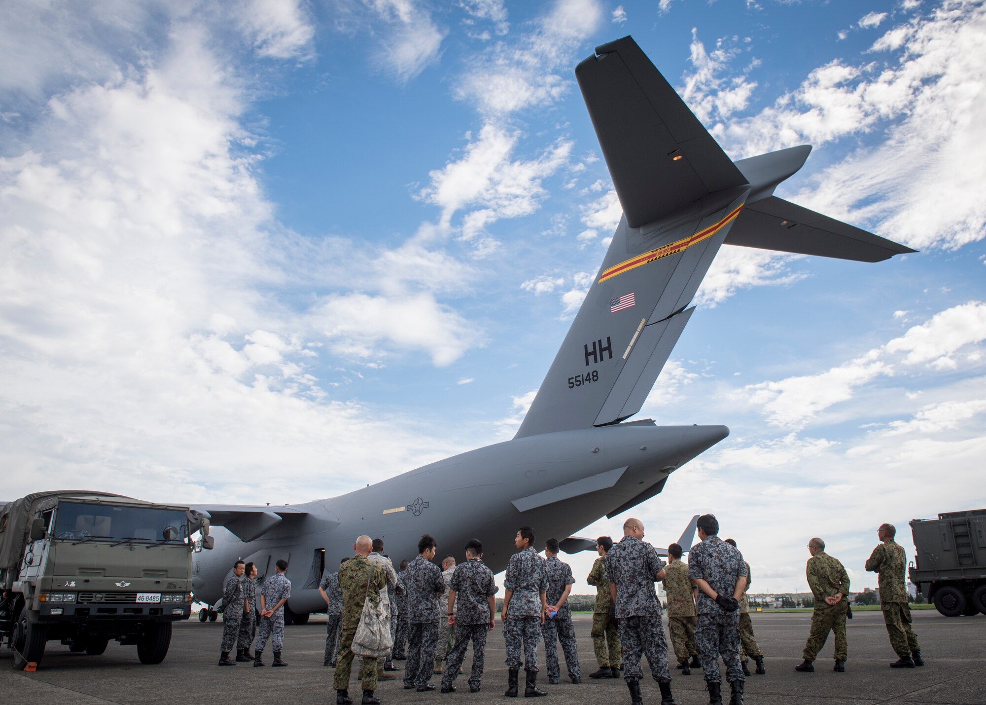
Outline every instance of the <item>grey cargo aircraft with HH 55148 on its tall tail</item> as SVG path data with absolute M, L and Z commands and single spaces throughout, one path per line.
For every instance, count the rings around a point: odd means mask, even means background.
M 725 426 L 630 421 L 695 312 L 690 305 L 723 245 L 880 262 L 914 252 L 773 196 L 810 145 L 734 162 L 637 43 L 617 39 L 575 69 L 623 216 L 589 293 L 513 439 L 339 497 L 291 507 L 197 506 L 215 548 L 196 555 L 194 590 L 215 605 L 237 558 L 260 576 L 278 558 L 293 584 L 288 619 L 323 609 L 318 582 L 357 536 L 380 536 L 394 559 L 422 533 L 440 549 L 479 538 L 494 573 L 518 527 L 569 537 L 657 496 Z M 221 528 L 219 528 L 221 527 Z M 570 551 L 595 546 L 571 537 Z

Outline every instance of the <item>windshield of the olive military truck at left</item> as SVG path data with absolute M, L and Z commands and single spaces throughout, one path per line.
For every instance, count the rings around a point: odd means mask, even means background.
M 183 511 L 59 502 L 54 537 L 75 541 L 183 543 Z

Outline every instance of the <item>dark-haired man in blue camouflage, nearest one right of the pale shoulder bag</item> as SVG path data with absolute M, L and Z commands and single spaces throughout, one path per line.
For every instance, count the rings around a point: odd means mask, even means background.
M 407 666 L 404 688 L 418 692 L 434 690 L 428 682 L 435 669 L 435 646 L 438 643 L 438 598 L 445 592 L 442 571 L 432 563 L 438 545 L 425 534 L 418 541 L 419 555 L 407 564 L 404 588 L 410 627 L 407 630 Z

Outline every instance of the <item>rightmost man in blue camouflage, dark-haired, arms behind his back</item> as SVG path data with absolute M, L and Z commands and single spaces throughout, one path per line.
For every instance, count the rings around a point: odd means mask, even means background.
M 723 541 L 719 521 L 712 514 L 698 517 L 701 543 L 688 554 L 688 578 L 698 587 L 695 612 L 695 646 L 705 671 L 709 703 L 722 699 L 722 676 L 719 657 L 726 663 L 726 679 L 732 689 L 731 705 L 742 705 L 743 681 L 740 666 L 740 596 L 746 577 L 740 551 Z

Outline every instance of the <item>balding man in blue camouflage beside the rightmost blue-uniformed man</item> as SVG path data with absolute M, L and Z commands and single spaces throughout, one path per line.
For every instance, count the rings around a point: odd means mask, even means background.
M 605 578 L 609 596 L 616 604 L 619 642 L 623 650 L 623 678 L 630 689 L 634 705 L 643 702 L 640 679 L 644 669 L 642 655 L 647 655 L 651 674 L 661 688 L 661 705 L 674 705 L 671 674 L 668 669 L 668 642 L 661 623 L 661 602 L 655 582 L 665 578 L 665 562 L 654 546 L 641 541 L 644 524 L 640 519 L 623 522 L 623 538 L 606 553 Z

